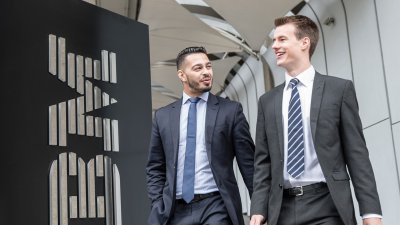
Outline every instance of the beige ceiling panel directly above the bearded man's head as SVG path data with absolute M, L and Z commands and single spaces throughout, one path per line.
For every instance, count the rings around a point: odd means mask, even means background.
M 174 59 L 188 46 L 204 46 L 209 53 L 241 49 L 200 21 L 175 0 L 142 1 L 138 20 L 149 25 L 151 63 Z

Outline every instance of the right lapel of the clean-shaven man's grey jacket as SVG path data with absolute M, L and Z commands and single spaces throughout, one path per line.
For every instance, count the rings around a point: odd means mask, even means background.
M 318 72 L 315 72 L 313 91 L 311 96 L 311 109 L 310 109 L 310 125 L 314 143 L 315 143 L 315 131 L 317 128 L 324 85 L 325 85 L 324 77 Z

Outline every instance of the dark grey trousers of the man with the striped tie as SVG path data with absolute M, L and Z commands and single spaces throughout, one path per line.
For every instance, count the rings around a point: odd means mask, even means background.
M 344 225 L 327 187 L 283 196 L 277 225 Z

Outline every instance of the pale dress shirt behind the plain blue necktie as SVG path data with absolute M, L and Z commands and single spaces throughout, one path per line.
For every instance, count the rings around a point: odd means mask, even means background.
M 213 191 L 218 191 L 215 183 L 214 176 L 209 164 L 206 139 L 205 139 L 205 123 L 207 100 L 209 92 L 203 93 L 199 96 L 201 99 L 196 104 L 197 106 L 197 128 L 196 128 L 196 161 L 195 161 L 195 179 L 194 179 L 194 193 L 205 194 Z M 179 152 L 178 152 L 178 167 L 176 179 L 176 197 L 182 196 L 182 182 L 183 182 L 183 169 L 185 165 L 185 151 L 186 151 L 186 136 L 187 136 L 187 119 L 189 112 L 190 96 L 183 92 L 182 108 L 180 116 L 180 134 L 179 134 Z

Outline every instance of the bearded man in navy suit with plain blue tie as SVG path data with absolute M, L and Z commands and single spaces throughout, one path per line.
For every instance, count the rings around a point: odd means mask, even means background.
M 242 106 L 209 92 L 213 70 L 203 47 L 185 48 L 176 61 L 183 97 L 154 113 L 148 223 L 244 225 L 233 160 L 251 195 L 254 144 Z

